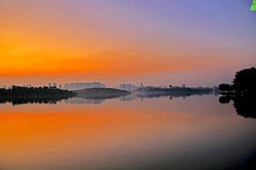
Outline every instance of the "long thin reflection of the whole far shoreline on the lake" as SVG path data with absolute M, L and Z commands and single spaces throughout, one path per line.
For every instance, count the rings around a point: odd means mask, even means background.
M 13 106 L 20 104 L 33 104 L 33 103 L 44 103 L 44 104 L 56 104 L 64 101 L 68 104 L 101 104 L 107 99 L 119 98 L 119 101 L 135 101 L 139 99 L 143 101 L 144 98 L 183 98 L 189 96 L 202 96 L 208 95 L 209 93 L 133 93 L 133 94 L 78 94 L 78 96 L 28 96 L 28 97 L 1 97 L 0 103 L 12 103 Z

